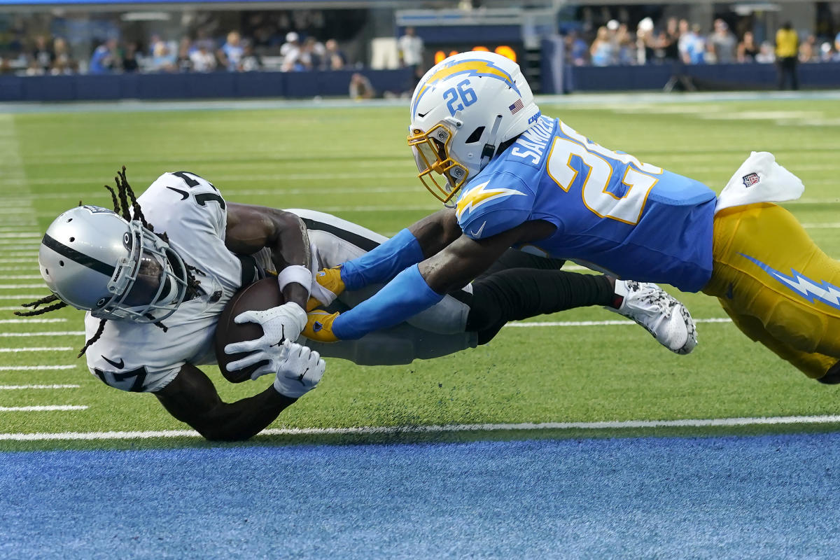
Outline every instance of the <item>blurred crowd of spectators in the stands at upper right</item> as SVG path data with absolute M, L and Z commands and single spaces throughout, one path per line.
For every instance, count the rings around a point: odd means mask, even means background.
M 795 30 L 793 33 L 796 34 Z M 798 62 L 840 61 L 840 34 L 817 39 L 814 34 L 795 35 Z M 616 19 L 596 28 L 594 38 L 572 30 L 566 34 L 566 57 L 572 65 L 643 65 L 680 61 L 684 64 L 730 64 L 738 62 L 772 63 L 780 55 L 779 41 L 756 41 L 752 31 L 736 35 L 722 18 L 712 24 L 710 33 L 687 19 L 668 18 L 661 26 L 643 18 L 636 29 Z M 785 45 L 786 46 L 786 45 Z

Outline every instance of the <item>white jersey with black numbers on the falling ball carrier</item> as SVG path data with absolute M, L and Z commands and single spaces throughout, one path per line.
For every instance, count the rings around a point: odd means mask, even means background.
M 216 363 L 213 333 L 225 304 L 242 285 L 243 264 L 224 244 L 225 201 L 201 177 L 184 171 L 164 173 L 137 201 L 155 232 L 166 233 L 171 248 L 198 270 L 192 274 L 203 293 L 181 303 L 165 319 L 165 332 L 149 323 L 108 321 L 86 356 L 87 367 L 108 385 L 154 391 L 174 379 L 187 362 Z M 265 249 L 261 260 L 267 254 Z M 99 319 L 87 313 L 87 338 L 98 327 Z

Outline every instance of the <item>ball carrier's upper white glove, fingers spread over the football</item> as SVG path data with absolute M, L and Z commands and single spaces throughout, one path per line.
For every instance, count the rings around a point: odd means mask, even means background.
M 283 359 L 286 359 L 286 349 L 281 344 L 284 340 L 294 342 L 301 336 L 303 327 L 307 325 L 307 312 L 297 303 L 284 303 L 265 311 L 244 311 L 234 318 L 236 323 L 255 322 L 262 327 L 263 336 L 255 340 L 244 340 L 224 347 L 224 353 L 235 354 L 250 352 L 243 359 L 228 364 L 228 371 L 247 368 L 262 360 L 268 364 L 260 366 L 251 374 L 251 379 L 260 375 L 277 371 Z

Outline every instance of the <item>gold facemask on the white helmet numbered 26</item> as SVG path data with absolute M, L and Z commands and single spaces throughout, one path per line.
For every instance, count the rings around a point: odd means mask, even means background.
M 469 171 L 449 155 L 452 133 L 443 124 L 436 124 L 428 130 L 414 129 L 408 136 L 408 145 L 417 163 L 417 178 L 439 201 L 446 204 L 467 181 Z M 445 181 L 438 182 L 432 172 L 443 175 Z

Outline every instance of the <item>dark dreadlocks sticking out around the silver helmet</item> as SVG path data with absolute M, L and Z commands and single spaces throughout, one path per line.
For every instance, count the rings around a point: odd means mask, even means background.
M 143 227 L 148 229 L 150 232 L 155 233 L 159 238 L 163 239 L 165 243 L 169 243 L 169 237 L 166 233 L 156 233 L 155 228 L 146 221 L 146 217 L 143 214 L 143 210 L 140 208 L 139 202 L 137 201 L 137 196 L 134 195 L 134 191 L 132 190 L 131 186 L 129 185 L 129 181 L 125 178 L 125 165 L 123 165 L 122 169 L 117 172 L 117 175 L 113 178 L 114 183 L 117 186 L 117 190 L 114 191 L 111 186 L 105 185 L 105 188 L 108 189 L 108 192 L 111 193 L 111 201 L 113 202 L 113 212 L 116 213 L 118 216 L 123 217 L 126 222 L 131 222 L 132 219 L 139 220 L 140 223 L 143 224 Z M 129 203 L 130 201 L 130 203 Z M 79 206 L 81 206 L 81 201 L 79 201 Z M 132 212 L 134 212 L 134 217 L 132 217 Z M 197 296 L 201 293 L 201 282 L 196 280 L 196 277 L 193 273 L 197 273 L 200 275 L 205 275 L 201 270 L 198 270 L 194 266 L 190 266 L 189 264 L 184 263 L 184 267 L 186 268 L 186 296 L 185 299 L 191 299 L 192 297 Z M 51 303 L 56 301 L 51 306 L 44 307 L 42 309 L 36 309 L 39 305 L 45 303 Z M 62 307 L 66 307 L 67 303 L 65 301 L 61 301 L 59 296 L 52 294 L 50 296 L 42 297 L 39 300 L 31 301 L 29 303 L 21 304 L 23 307 L 32 307 L 32 311 L 15 311 L 14 314 L 20 317 L 32 317 L 34 315 L 42 315 L 44 313 L 48 313 L 50 311 L 55 311 L 56 309 L 61 309 Z M 151 314 L 146 314 L 145 316 L 148 319 L 154 319 L 155 317 Z M 79 355 L 77 358 L 81 358 L 87 352 L 87 348 L 97 342 L 99 338 L 102 336 L 102 332 L 105 331 L 105 322 L 108 319 L 100 319 L 99 320 L 99 327 L 97 328 L 97 332 L 93 334 L 91 338 L 88 338 L 85 341 L 85 345 L 81 347 L 79 351 Z M 168 329 L 163 324 L 163 322 L 157 321 L 153 323 L 155 327 L 159 327 L 163 329 L 163 332 L 166 332 Z

